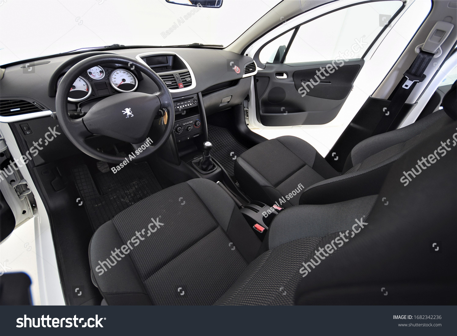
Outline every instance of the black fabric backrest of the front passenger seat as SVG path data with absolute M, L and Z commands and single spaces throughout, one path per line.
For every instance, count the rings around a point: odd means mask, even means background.
M 300 196 L 299 203 L 328 204 L 377 194 L 396 160 L 415 144 L 457 120 L 456 84 L 457 81 L 443 98 L 443 111 L 357 144 L 348 158 L 350 164 L 346 162 L 346 168 L 351 169 L 341 176 L 308 187 Z

